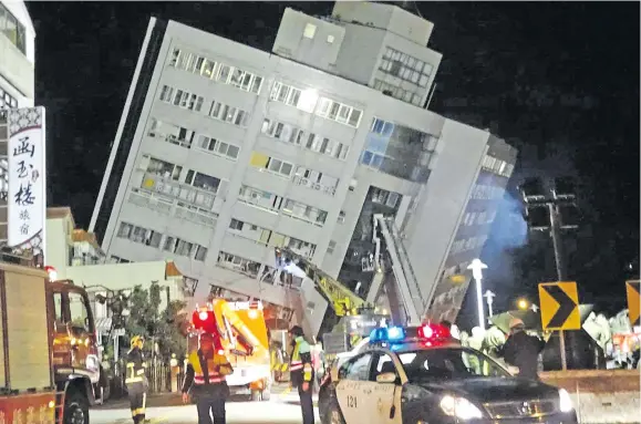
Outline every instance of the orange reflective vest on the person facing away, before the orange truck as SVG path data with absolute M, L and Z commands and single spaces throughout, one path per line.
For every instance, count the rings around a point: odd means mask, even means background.
M 224 354 L 214 351 L 210 358 L 205 358 L 200 350 L 193 351 L 187 359 L 187 373 L 183 392 L 188 392 L 192 385 L 205 386 L 225 382 L 226 375 L 234 372 L 231 364 Z

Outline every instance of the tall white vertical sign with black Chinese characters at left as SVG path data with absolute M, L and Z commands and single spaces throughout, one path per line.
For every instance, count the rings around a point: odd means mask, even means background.
M 9 111 L 9 247 L 42 255 L 46 215 L 44 107 Z

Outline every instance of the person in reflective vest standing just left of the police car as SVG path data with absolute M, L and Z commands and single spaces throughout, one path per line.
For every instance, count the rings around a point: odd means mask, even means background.
M 293 347 L 291 362 L 289 364 L 291 385 L 298 387 L 302 424 L 313 424 L 312 387 L 314 372 L 311 361 L 311 349 L 304 340 L 300 327 L 293 325 L 291 330 L 289 330 L 289 334 L 291 335 L 291 344 Z

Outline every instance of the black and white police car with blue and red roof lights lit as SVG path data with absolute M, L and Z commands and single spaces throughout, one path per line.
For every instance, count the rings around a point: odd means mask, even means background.
M 445 327 L 380 328 L 319 392 L 323 424 L 578 423 L 565 390 L 513 376 Z

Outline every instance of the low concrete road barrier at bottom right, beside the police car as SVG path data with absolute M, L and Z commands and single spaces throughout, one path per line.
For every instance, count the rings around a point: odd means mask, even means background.
M 571 370 L 539 374 L 570 393 L 581 424 L 641 423 L 639 370 Z

